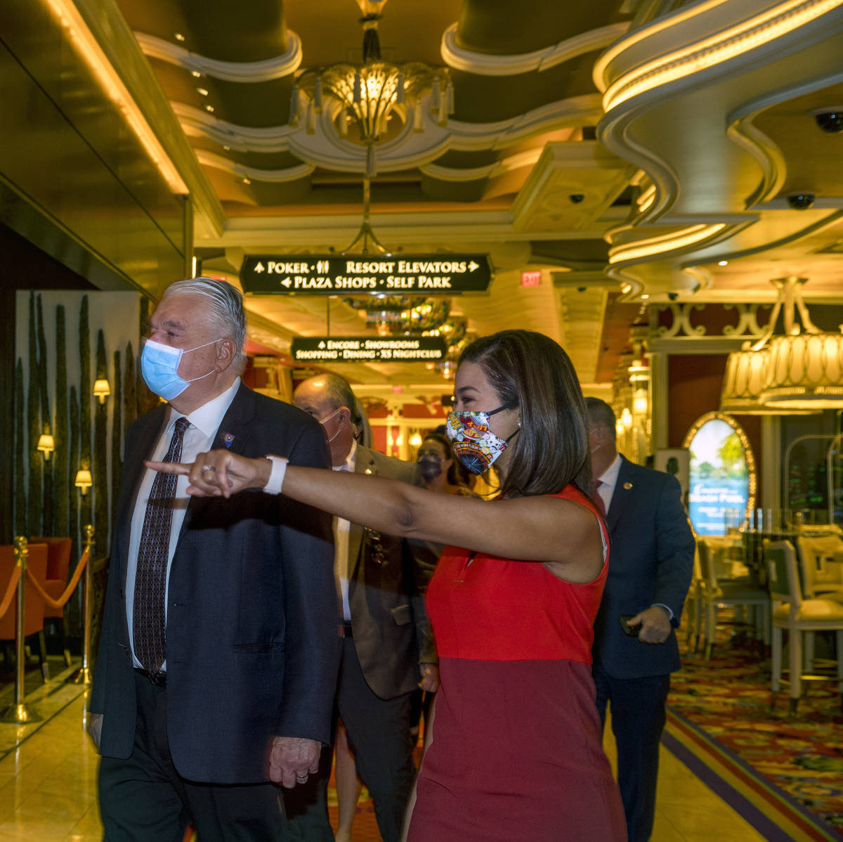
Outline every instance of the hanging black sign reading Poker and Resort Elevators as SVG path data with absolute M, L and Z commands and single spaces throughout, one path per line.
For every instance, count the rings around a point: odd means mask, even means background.
M 456 295 L 485 292 L 486 255 L 259 255 L 240 269 L 246 294 Z

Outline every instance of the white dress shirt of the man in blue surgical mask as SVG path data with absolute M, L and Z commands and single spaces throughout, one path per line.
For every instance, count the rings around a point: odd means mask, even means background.
M 173 429 L 175 422 L 179 418 L 187 418 L 191 426 L 185 429 L 185 435 L 181 445 L 181 461 L 192 462 L 196 460 L 196 456 L 211 449 L 213 440 L 217 435 L 219 425 L 223 423 L 225 413 L 228 412 L 228 407 L 234 400 L 234 395 L 240 385 L 239 377 L 234 383 L 228 387 L 221 395 L 212 398 L 207 403 L 202 404 L 198 409 L 194 409 L 190 415 L 182 416 L 175 412 L 175 409 L 170 407 L 169 418 L 164 430 L 158 438 L 158 442 L 153 448 L 149 456 L 151 461 L 161 461 L 166 456 L 169 450 L 169 442 L 173 438 Z M 147 504 L 149 502 L 149 494 L 153 489 L 153 482 L 155 481 L 155 472 L 147 468 L 143 473 L 140 487 L 137 489 L 137 498 L 135 499 L 135 509 L 132 512 L 132 529 L 129 533 L 129 555 L 126 561 L 126 622 L 129 627 L 129 645 L 132 646 L 132 661 L 136 667 L 141 667 L 142 664 L 135 656 L 135 643 L 132 623 L 134 621 L 134 605 L 135 605 L 135 576 L 137 574 L 137 553 L 141 546 L 141 533 L 143 531 L 143 519 L 147 513 Z M 173 522 L 170 526 L 169 532 L 169 551 L 167 553 L 167 584 L 164 590 L 164 622 L 167 618 L 167 596 L 169 595 L 169 569 L 173 564 L 173 554 L 175 553 L 175 545 L 179 541 L 179 533 L 181 532 L 181 525 L 185 521 L 185 512 L 187 511 L 187 504 L 190 502 L 190 497 L 187 494 L 187 486 L 190 485 L 190 480 L 187 477 L 177 477 L 175 483 L 175 501 L 173 504 Z M 164 661 L 161 668 L 167 668 L 167 662 Z

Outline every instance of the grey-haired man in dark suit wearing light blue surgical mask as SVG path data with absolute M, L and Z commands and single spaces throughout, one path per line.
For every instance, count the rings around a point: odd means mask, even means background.
M 169 403 L 126 434 L 89 731 L 105 839 L 277 839 L 275 781 L 330 741 L 339 641 L 330 517 L 277 496 L 188 498 L 147 459 L 213 447 L 327 466 L 319 424 L 239 380 L 239 292 L 171 285 L 141 356 Z

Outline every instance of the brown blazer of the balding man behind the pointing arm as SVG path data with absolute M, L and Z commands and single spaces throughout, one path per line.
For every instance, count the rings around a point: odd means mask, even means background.
M 355 473 L 413 480 L 415 466 L 357 445 Z M 375 695 L 394 699 L 419 682 L 419 664 L 435 663 L 436 647 L 424 606 L 431 566 L 419 558 L 426 548 L 380 534 L 384 562 L 373 559 L 363 526 L 352 523 L 348 536 L 348 600 L 363 675 Z

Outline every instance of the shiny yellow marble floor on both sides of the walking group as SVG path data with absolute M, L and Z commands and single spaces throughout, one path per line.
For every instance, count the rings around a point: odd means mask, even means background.
M 102 838 L 97 754 L 84 731 L 86 693 L 65 683 L 69 672 L 56 674 L 26 697 L 42 721 L 0 723 L 0 842 Z M 0 701 L 9 704 L 10 694 Z M 611 758 L 610 737 L 606 749 Z M 661 762 L 652 842 L 762 842 L 763 836 L 664 748 Z

